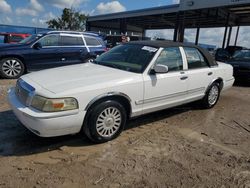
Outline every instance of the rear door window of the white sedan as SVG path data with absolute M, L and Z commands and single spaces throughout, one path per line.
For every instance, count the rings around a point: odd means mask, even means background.
M 208 67 L 207 60 L 198 49 L 185 47 L 184 50 L 187 56 L 188 69 Z

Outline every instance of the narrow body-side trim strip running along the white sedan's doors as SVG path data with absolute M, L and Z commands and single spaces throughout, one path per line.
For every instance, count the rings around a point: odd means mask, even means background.
M 178 92 L 178 93 L 173 93 L 170 95 L 164 95 L 164 96 L 160 96 L 160 97 L 154 97 L 154 98 L 145 99 L 145 100 L 141 100 L 141 101 L 135 101 L 135 104 L 136 105 L 148 104 L 148 103 L 152 103 L 152 102 L 162 101 L 162 100 L 166 100 L 166 99 L 170 99 L 170 98 L 174 98 L 174 97 L 179 97 L 179 96 L 183 96 L 183 95 L 196 93 L 196 92 L 203 91 L 203 90 L 205 90 L 205 87 L 200 87 L 200 88 L 196 88 L 196 89 L 192 89 L 192 90 L 188 90 L 188 91 L 183 91 L 183 92 Z

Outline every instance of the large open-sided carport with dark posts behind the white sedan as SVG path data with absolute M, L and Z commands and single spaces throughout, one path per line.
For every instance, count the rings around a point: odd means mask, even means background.
M 144 36 L 146 30 L 174 29 L 173 41 L 184 41 L 185 29 L 196 29 L 195 44 L 201 28 L 224 27 L 222 47 L 230 44 L 232 28 L 250 26 L 250 0 L 180 0 L 179 4 L 121 13 L 91 16 L 87 30 L 135 33 Z

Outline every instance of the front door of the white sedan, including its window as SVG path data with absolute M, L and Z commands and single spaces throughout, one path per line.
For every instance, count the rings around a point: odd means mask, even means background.
M 188 80 L 179 47 L 162 50 L 155 65 L 168 66 L 168 73 L 144 75 L 143 112 L 162 110 L 183 103 L 187 96 Z

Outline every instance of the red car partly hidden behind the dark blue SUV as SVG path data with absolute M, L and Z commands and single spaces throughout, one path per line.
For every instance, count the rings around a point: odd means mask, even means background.
M 29 36 L 27 33 L 0 33 L 0 40 L 1 43 L 18 43 Z

